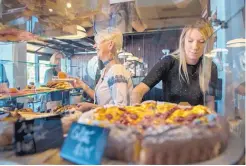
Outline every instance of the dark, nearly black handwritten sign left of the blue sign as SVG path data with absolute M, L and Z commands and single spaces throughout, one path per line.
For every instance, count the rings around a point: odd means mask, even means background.
M 43 152 L 61 147 L 63 130 L 60 115 L 15 123 L 16 155 Z

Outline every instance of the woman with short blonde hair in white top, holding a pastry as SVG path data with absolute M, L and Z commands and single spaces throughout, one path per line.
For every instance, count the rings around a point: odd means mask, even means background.
M 105 105 L 130 105 L 130 94 L 133 89 L 130 73 L 119 64 L 117 52 L 123 45 L 123 35 L 115 28 L 107 28 L 95 36 L 95 47 L 98 58 L 104 69 L 95 87 L 89 88 L 83 81 L 76 80 L 76 87 L 82 88 L 92 99 L 92 103 L 80 103 L 79 110 L 87 111 Z

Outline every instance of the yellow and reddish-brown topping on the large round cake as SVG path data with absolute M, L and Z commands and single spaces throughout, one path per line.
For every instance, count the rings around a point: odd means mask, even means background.
M 124 125 L 189 124 L 193 120 L 206 123 L 206 115 L 211 114 L 207 107 L 197 105 L 182 108 L 176 104 L 145 102 L 137 106 L 97 108 L 93 120 L 109 121 Z

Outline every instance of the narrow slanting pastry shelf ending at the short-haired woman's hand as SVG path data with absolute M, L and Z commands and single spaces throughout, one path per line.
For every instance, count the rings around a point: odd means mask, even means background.
M 49 94 L 49 93 L 52 93 L 52 92 L 71 91 L 71 90 L 74 90 L 74 89 L 75 88 L 54 89 L 54 90 L 48 90 L 48 91 L 36 91 L 36 92 L 25 92 L 25 93 L 23 93 L 23 92 L 20 92 L 20 93 L 9 93 L 9 94 L 3 95 L 3 96 L 0 95 L 0 100 L 14 99 L 14 98 L 19 98 L 19 97 L 31 97 L 31 96 L 39 95 L 39 94 Z

